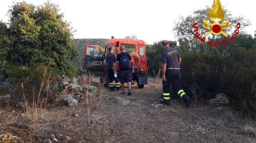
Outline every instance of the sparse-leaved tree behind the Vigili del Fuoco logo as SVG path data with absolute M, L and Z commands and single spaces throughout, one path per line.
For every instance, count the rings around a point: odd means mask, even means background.
M 206 43 L 201 43 L 200 41 L 198 41 L 195 37 L 194 37 L 194 29 L 192 28 L 192 25 L 194 23 L 198 23 L 197 26 L 199 27 L 199 33 L 201 33 L 202 35 L 204 33 L 206 33 L 208 30 L 203 28 L 202 24 L 203 24 L 203 20 L 208 20 L 208 14 L 210 11 L 210 7 L 207 7 L 205 9 L 197 9 L 193 12 L 193 14 L 188 15 L 186 17 L 180 16 L 179 20 L 176 21 L 174 23 L 174 27 L 173 30 L 175 31 L 175 35 L 176 37 L 178 37 L 178 41 L 181 45 L 181 48 L 183 50 L 188 50 L 188 51 L 201 51 L 201 52 L 206 52 L 206 50 L 211 51 L 214 50 L 216 53 L 220 53 L 220 52 L 224 52 L 224 51 L 228 51 L 228 49 L 232 46 L 230 44 L 227 44 L 224 47 L 207 47 L 207 42 Z M 247 27 L 250 25 L 250 21 L 245 19 L 243 16 L 238 16 L 238 17 L 234 17 L 230 11 L 228 11 L 227 9 L 224 9 L 224 15 L 225 18 L 224 20 L 229 20 L 231 26 L 225 30 L 225 32 L 227 32 L 229 34 L 229 37 L 232 36 L 236 24 L 239 22 L 241 24 L 241 29 Z M 212 21 L 210 21 L 212 23 Z M 232 34 L 231 34 L 232 33 Z M 243 35 L 245 33 L 242 33 L 240 35 Z M 240 36 L 239 35 L 239 36 Z M 216 39 L 220 39 L 223 38 L 222 36 L 218 35 L 218 36 L 210 36 L 206 41 L 211 41 L 211 40 L 216 40 Z M 239 42 L 234 40 L 234 42 Z M 239 44 L 237 44 L 239 45 Z M 224 49 L 226 48 L 226 49 Z M 224 53 L 221 53 L 224 54 Z

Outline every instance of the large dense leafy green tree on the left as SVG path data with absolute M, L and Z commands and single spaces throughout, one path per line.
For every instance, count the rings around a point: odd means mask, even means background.
M 42 63 L 74 76 L 77 56 L 73 32 L 59 7 L 51 2 L 35 7 L 26 2 L 10 7 L 9 23 L 0 22 L 0 70 L 10 75 L 22 66 Z

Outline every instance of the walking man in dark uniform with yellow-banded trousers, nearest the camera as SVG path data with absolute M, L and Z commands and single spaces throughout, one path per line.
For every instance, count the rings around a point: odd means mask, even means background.
M 161 42 L 163 52 L 161 55 L 161 68 L 163 78 L 163 100 L 161 104 L 170 105 L 170 85 L 175 92 L 184 100 L 185 106 L 189 107 L 190 98 L 181 88 L 181 56 L 175 48 L 169 47 L 167 40 Z

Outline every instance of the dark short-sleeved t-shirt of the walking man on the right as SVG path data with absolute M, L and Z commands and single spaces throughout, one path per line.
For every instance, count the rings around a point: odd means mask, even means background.
M 180 53 L 177 49 L 167 47 L 162 51 L 161 64 L 166 64 L 166 68 L 179 68 L 179 59 L 181 58 Z

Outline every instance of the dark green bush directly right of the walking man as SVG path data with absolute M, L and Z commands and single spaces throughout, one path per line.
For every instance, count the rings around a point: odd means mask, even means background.
M 182 85 L 190 92 L 192 83 L 197 83 L 203 91 L 216 92 L 220 74 L 224 72 L 224 57 L 213 53 L 187 52 L 181 54 Z

